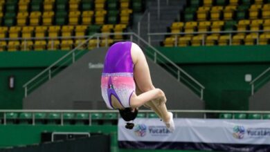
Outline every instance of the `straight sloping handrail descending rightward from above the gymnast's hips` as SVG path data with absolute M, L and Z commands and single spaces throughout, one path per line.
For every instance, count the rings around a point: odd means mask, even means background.
M 136 35 L 136 33 L 134 33 L 134 35 Z M 138 37 L 138 35 L 136 35 L 136 36 Z M 138 37 L 138 39 L 141 39 L 141 41 L 143 41 L 143 43 L 147 44 L 147 41 L 145 41 L 141 37 Z M 187 75 L 188 78 L 192 79 L 192 81 L 194 81 L 196 84 L 198 84 L 201 88 L 205 89 L 202 84 L 200 84 L 196 79 L 194 79 L 193 77 L 191 77 L 190 75 L 188 75 L 188 73 L 186 73 L 186 71 L 184 71 L 182 68 L 180 68 L 179 66 L 177 66 L 177 64 L 174 64 L 174 62 L 172 62 L 168 57 L 166 57 L 165 55 L 163 55 L 162 53 L 160 53 L 159 50 L 157 50 L 156 48 L 154 48 L 151 45 L 150 45 L 150 48 L 152 48 L 156 53 L 158 53 L 159 55 L 161 55 L 161 57 L 163 57 L 164 59 L 166 59 L 170 64 L 172 64 L 175 68 L 177 68 L 177 70 L 180 70 L 182 73 L 184 73 L 185 75 Z

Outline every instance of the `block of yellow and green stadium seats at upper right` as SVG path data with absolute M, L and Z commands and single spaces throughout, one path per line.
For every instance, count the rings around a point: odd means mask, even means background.
M 163 41 L 164 46 L 206 46 L 270 44 L 270 1 L 269 0 L 191 0 L 181 13 L 181 21 L 172 23 L 172 35 Z M 215 32 L 211 34 L 173 35 L 179 32 Z M 221 33 L 219 33 L 221 32 Z

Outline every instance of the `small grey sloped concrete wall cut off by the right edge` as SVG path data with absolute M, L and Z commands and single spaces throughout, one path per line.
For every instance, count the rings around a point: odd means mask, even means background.
M 270 111 L 270 82 L 249 97 L 250 111 Z

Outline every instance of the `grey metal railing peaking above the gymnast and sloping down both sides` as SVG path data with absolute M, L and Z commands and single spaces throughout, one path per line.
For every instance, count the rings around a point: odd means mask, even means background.
M 142 41 L 144 44 L 147 45 L 147 47 L 151 48 L 152 50 L 154 50 L 154 62 L 156 63 L 156 55 L 159 55 L 160 57 L 162 57 L 163 59 L 165 59 L 165 61 L 167 61 L 170 65 L 172 65 L 174 68 L 177 69 L 177 73 L 178 73 L 178 81 L 180 82 L 180 72 L 183 73 L 186 77 L 188 77 L 189 79 L 191 79 L 192 82 L 194 82 L 195 84 L 197 84 L 200 87 L 200 91 L 201 91 L 201 99 L 203 99 L 203 94 L 204 94 L 204 86 L 202 84 L 200 84 L 196 79 L 194 79 L 193 77 L 191 77 L 190 75 L 188 75 L 188 73 L 186 73 L 186 71 L 184 71 L 183 69 L 181 69 L 179 66 L 177 66 L 177 64 L 174 64 L 172 61 L 170 61 L 170 59 L 168 59 L 168 57 L 165 57 L 165 55 L 163 55 L 162 53 L 159 52 L 159 50 L 157 50 L 156 48 L 154 48 L 153 46 L 151 46 L 150 44 L 147 43 L 147 41 L 145 41 L 143 38 L 139 37 L 136 33 L 134 32 L 125 32 L 125 33 L 118 33 L 121 35 L 129 35 L 130 39 L 132 41 L 132 36 L 136 37 L 138 39 L 138 41 Z M 69 53 L 67 53 L 66 55 L 64 55 L 63 57 L 61 57 L 60 59 L 58 59 L 57 61 L 55 61 L 51 66 L 49 66 L 48 68 L 46 68 L 45 70 L 43 70 L 41 73 L 39 73 L 38 75 L 36 75 L 35 77 L 33 77 L 32 79 L 30 79 L 28 82 L 26 82 L 26 84 L 24 84 L 24 89 L 25 89 L 25 97 L 28 95 L 28 85 L 33 83 L 35 80 L 37 80 L 40 76 L 44 75 L 44 73 L 49 73 L 48 77 L 49 79 L 51 79 L 51 68 L 53 68 L 54 66 L 56 66 L 57 64 L 60 63 L 60 61 L 62 61 L 63 59 L 65 59 L 66 57 L 68 57 L 69 55 L 73 55 L 73 62 L 75 61 L 74 57 L 75 57 L 75 50 L 77 50 L 78 48 L 80 48 L 80 46 L 87 44 L 87 41 L 89 41 L 90 39 L 93 39 L 94 37 L 96 37 L 98 40 L 100 37 L 108 37 L 109 35 L 115 35 L 114 33 L 96 33 L 90 37 L 88 37 L 87 40 L 83 41 L 81 44 L 79 44 L 78 46 L 76 46 L 75 48 L 73 48 L 73 50 L 71 50 Z M 187 80 L 186 80 L 187 81 Z M 37 83 L 36 83 L 37 84 Z M 190 84 L 192 85 L 192 84 Z M 34 86 L 34 84 L 33 84 Z M 33 87 L 32 86 L 32 87 Z M 195 87 L 195 86 L 192 86 Z M 30 87 L 29 87 L 30 88 Z

